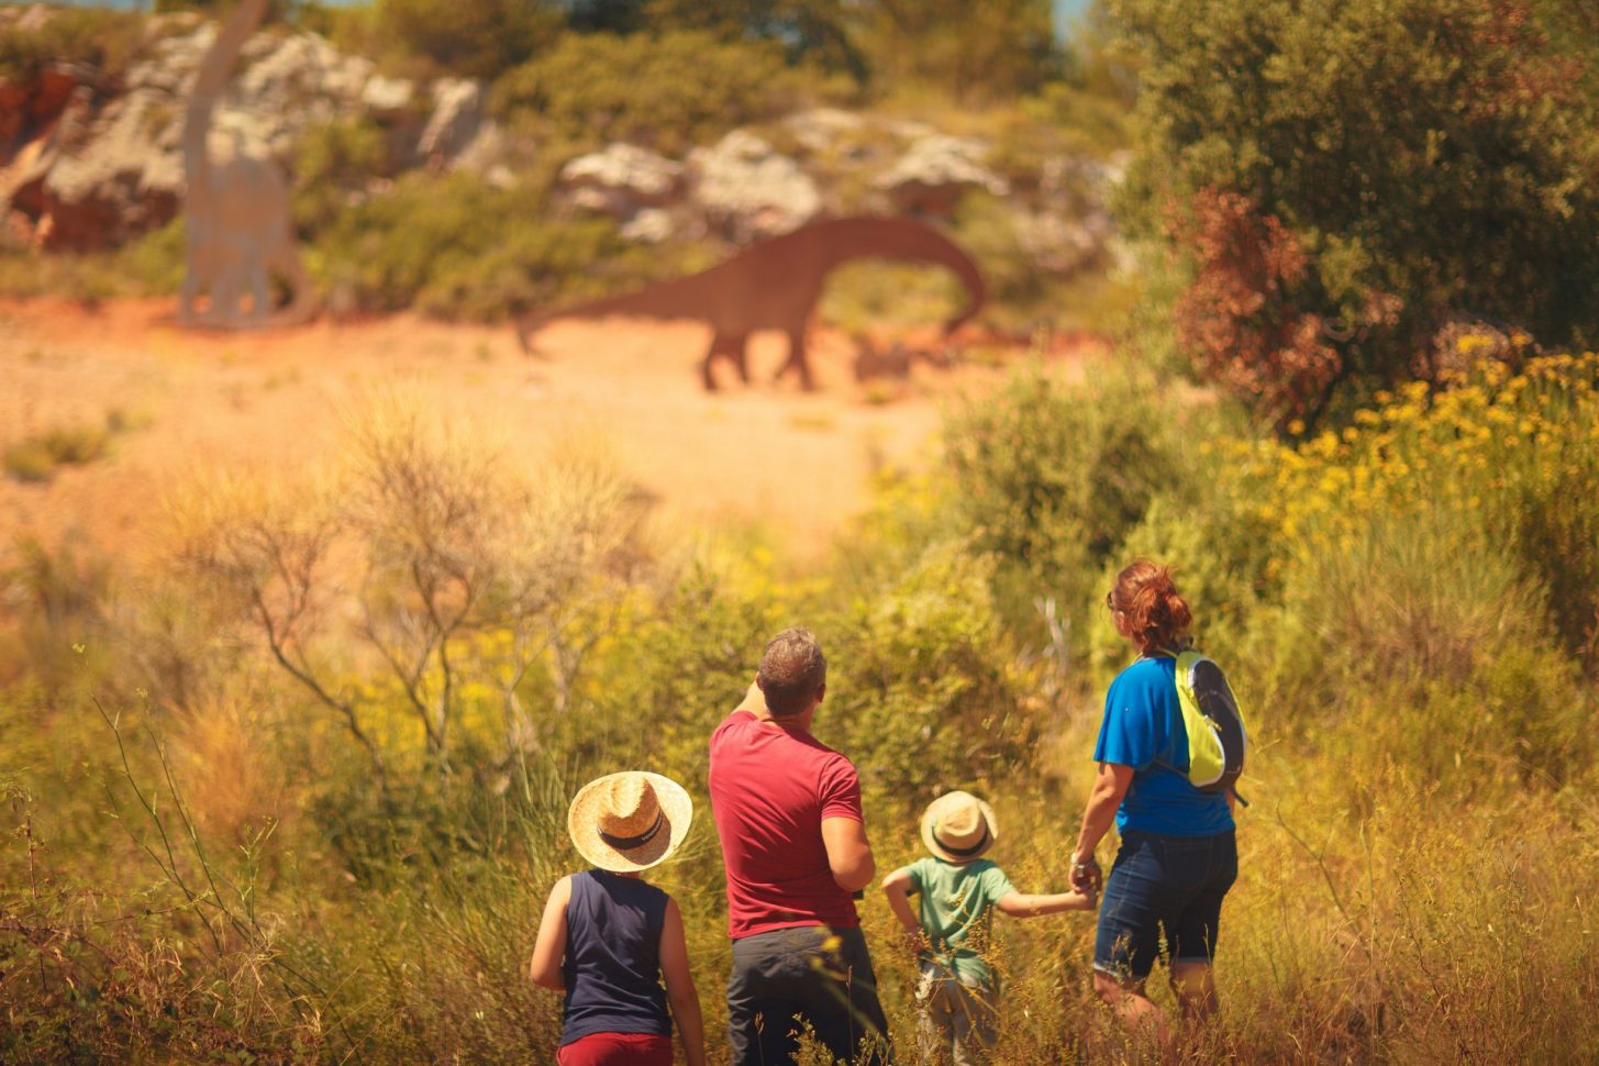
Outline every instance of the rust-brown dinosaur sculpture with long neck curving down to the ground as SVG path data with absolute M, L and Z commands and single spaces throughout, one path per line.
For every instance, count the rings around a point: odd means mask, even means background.
M 556 318 L 697 318 L 713 331 L 702 372 L 705 388 L 715 390 L 712 364 L 718 356 L 732 360 L 739 379 L 748 382 L 745 347 L 750 334 L 780 329 L 788 334 L 788 360 L 777 376 L 795 371 L 800 385 L 811 390 L 815 384 L 806 363 L 806 323 L 822 296 L 828 272 L 849 259 L 863 257 L 931 262 L 953 270 L 966 286 L 967 307 L 945 323 L 945 336 L 977 315 L 987 299 L 977 264 L 931 225 L 911 219 L 847 217 L 812 222 L 793 233 L 760 241 L 732 259 L 686 278 L 526 315 L 518 320 L 516 331 L 523 350 L 531 352 L 529 337 Z

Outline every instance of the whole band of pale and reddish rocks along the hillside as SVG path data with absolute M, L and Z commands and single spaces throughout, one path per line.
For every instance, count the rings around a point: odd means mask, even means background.
M 51 18 L 50 8 L 22 11 Z M 99 248 L 174 216 L 181 115 L 216 26 L 195 14 L 155 16 L 149 26 L 144 54 L 115 91 L 93 70 L 66 66 L 27 85 L 0 83 L 5 240 Z M 515 123 L 496 125 L 475 80 L 387 77 L 315 34 L 281 27 L 245 45 L 238 77 L 216 102 L 213 149 L 217 158 L 238 153 L 293 171 L 301 133 L 334 117 L 379 126 L 390 168 L 469 171 L 502 189 L 550 149 Z M 1107 208 L 1122 161 L 1060 153 L 1011 176 L 996 168 L 993 149 L 926 121 L 815 107 L 761 133 L 734 129 L 681 158 L 609 144 L 569 160 L 550 203 L 529 209 L 604 214 L 628 241 L 712 237 L 737 246 L 819 217 L 950 221 L 975 195 L 999 201 L 983 206 L 985 225 L 1004 227 L 1003 240 L 1039 270 L 1127 262 Z M 374 176 L 371 192 L 381 195 L 382 185 Z

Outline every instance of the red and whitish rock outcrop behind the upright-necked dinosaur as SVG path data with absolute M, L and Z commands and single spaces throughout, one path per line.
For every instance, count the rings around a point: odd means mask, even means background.
M 0 217 L 13 240 L 90 251 L 176 216 L 182 115 L 216 32 L 216 24 L 189 14 L 150 19 L 144 54 L 117 91 L 94 72 L 66 66 L 22 85 L 0 82 Z M 369 59 L 344 54 L 317 34 L 262 30 L 241 61 L 211 123 L 217 155 L 289 166 L 304 129 L 365 117 L 389 129 L 401 163 L 448 166 L 483 125 L 478 82 L 441 80 L 427 107 L 414 83 L 376 75 Z

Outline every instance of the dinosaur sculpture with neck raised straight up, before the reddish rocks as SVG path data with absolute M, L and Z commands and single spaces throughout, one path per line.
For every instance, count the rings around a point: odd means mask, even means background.
M 241 0 L 217 32 L 200 62 L 195 88 L 184 115 L 184 177 L 187 184 L 187 273 L 179 304 L 184 324 L 243 329 L 269 323 L 272 278 L 293 289 L 289 307 L 270 321 L 289 324 L 315 312 L 310 276 L 301 264 L 289 227 L 289 192 L 278 168 L 265 158 L 245 155 L 233 136 L 233 153 L 214 160 L 209 152 L 211 118 L 238 53 L 265 18 L 269 0 Z M 209 294 L 205 316 L 195 313 L 195 297 Z M 249 312 L 240 297 L 249 294 Z

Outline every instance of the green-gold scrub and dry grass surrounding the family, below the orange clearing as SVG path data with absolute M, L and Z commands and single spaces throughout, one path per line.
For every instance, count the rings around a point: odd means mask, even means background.
M 803 574 L 654 537 L 593 443 L 529 471 L 379 396 L 339 463 L 177 497 L 160 572 L 16 558 L 0 1050 L 548 1060 L 537 901 L 577 861 L 568 796 L 622 766 L 699 801 L 660 881 L 720 1039 L 705 737 L 763 638 L 827 641 L 817 732 L 860 767 L 884 869 L 967 786 L 1017 884 L 1054 887 L 1122 655 L 1099 603 L 1151 553 L 1258 737 L 1225 1018 L 1190 1060 L 1578 1061 L 1596 382 L 1594 356 L 1487 361 L 1276 443 L 1145 371 L 1022 372 Z M 863 913 L 908 1034 L 911 967 Z M 999 1061 L 1134 1056 L 1089 945 L 1081 917 L 1001 929 Z

